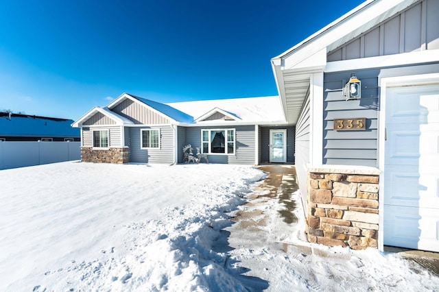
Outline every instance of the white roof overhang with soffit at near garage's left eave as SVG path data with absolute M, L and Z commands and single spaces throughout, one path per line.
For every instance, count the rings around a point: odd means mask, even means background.
M 296 123 L 313 73 L 322 72 L 327 53 L 419 0 L 368 0 L 302 42 L 272 58 L 287 121 Z

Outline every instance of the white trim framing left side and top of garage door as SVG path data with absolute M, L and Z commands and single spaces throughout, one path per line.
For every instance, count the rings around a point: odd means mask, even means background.
M 425 51 L 424 51 L 425 53 Z M 385 161 L 385 104 L 387 102 L 387 88 L 396 86 L 424 85 L 439 82 L 439 73 L 405 75 L 398 77 L 383 77 L 379 84 L 380 91 L 380 111 L 378 117 L 378 167 L 381 170 L 379 176 L 379 230 L 378 230 L 378 249 L 384 249 L 384 161 Z

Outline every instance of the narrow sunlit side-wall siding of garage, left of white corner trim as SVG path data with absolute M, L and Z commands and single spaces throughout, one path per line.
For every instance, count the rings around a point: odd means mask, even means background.
M 302 105 L 300 114 L 296 123 L 295 131 L 295 165 L 298 179 L 298 186 L 300 189 L 300 195 L 302 198 L 303 210 L 307 210 L 307 181 L 308 170 L 307 164 L 309 163 L 309 90 L 307 97 Z

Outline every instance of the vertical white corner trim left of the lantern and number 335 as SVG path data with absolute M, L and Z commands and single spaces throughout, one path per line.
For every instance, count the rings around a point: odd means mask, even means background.
M 309 84 L 309 164 L 323 164 L 323 72 L 313 73 Z

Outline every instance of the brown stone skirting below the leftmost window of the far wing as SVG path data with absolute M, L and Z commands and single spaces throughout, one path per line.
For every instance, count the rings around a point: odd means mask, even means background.
M 128 163 L 130 162 L 130 148 L 93 149 L 81 147 L 81 161 L 103 163 Z

